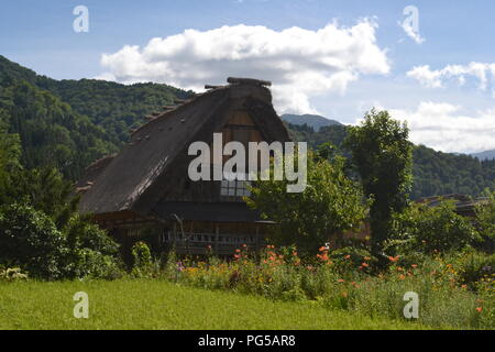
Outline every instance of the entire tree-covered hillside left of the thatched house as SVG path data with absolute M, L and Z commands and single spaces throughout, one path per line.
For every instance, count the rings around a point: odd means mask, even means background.
M 19 134 L 23 165 L 52 165 L 70 179 L 118 152 L 146 114 L 190 95 L 156 84 L 55 80 L 0 56 L 0 119 Z

